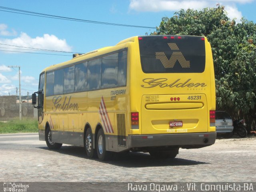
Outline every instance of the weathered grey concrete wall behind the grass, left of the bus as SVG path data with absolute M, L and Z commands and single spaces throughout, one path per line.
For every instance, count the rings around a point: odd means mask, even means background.
M 10 118 L 18 118 L 19 103 L 16 102 L 16 96 L 0 96 L 0 121 Z M 37 118 L 37 109 L 34 112 L 32 103 L 21 103 L 22 117 Z

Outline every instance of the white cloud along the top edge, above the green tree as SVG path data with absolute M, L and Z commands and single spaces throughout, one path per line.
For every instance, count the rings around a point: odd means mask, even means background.
M 246 4 L 254 0 L 221 0 L 220 4 L 225 6 L 228 17 L 236 22 L 240 22 L 242 12 L 238 11 L 236 3 Z M 216 6 L 216 0 L 130 0 L 130 10 L 137 12 L 160 12 L 160 11 L 178 11 L 188 8 L 202 10 L 206 7 Z

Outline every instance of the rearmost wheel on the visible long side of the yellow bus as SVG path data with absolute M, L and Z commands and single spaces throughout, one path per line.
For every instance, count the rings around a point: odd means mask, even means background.
M 102 129 L 98 131 L 96 144 L 97 144 L 97 154 L 98 154 L 99 160 L 101 161 L 110 160 L 111 152 L 106 151 L 105 136 Z

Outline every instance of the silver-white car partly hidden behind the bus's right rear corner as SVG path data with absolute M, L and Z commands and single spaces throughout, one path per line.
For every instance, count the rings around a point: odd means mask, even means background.
M 217 133 L 226 133 L 226 135 L 230 134 L 230 136 L 232 136 L 234 129 L 233 120 L 227 112 L 215 112 L 215 126 Z

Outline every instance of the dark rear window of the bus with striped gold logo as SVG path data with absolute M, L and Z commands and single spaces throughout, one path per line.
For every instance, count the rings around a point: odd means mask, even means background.
M 141 36 L 140 62 L 144 73 L 202 73 L 205 41 L 199 36 Z

